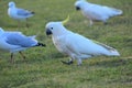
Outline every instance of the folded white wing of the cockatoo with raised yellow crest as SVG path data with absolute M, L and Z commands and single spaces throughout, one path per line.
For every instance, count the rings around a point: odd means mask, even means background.
M 69 34 L 66 37 L 66 45 L 75 54 L 86 55 L 119 55 L 119 53 L 105 44 L 94 42 L 79 34 Z

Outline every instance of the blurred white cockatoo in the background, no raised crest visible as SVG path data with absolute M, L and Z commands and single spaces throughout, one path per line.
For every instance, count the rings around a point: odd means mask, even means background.
M 107 20 L 111 16 L 121 15 L 123 13 L 122 10 L 90 3 L 86 0 L 77 0 L 75 7 L 76 10 L 80 10 L 81 13 L 90 20 L 90 25 L 94 24 L 94 21 L 102 21 L 106 24 Z

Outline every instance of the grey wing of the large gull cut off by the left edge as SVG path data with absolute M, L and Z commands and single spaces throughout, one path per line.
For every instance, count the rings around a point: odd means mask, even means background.
M 6 42 L 11 45 L 20 45 L 22 47 L 31 47 L 37 44 L 33 37 L 22 35 L 21 33 L 7 33 Z

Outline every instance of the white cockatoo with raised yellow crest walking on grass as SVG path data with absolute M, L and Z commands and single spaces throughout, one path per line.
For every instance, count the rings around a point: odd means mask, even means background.
M 78 65 L 81 59 L 98 55 L 120 56 L 119 52 L 106 44 L 89 40 L 82 35 L 68 31 L 63 24 L 67 22 L 48 22 L 45 26 L 46 35 L 52 35 L 52 40 L 56 48 L 70 57 L 68 63 L 72 64 L 76 58 Z

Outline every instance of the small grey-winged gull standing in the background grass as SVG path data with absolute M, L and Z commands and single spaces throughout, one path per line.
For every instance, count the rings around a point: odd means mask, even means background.
M 11 2 L 9 2 L 8 14 L 10 18 L 12 18 L 14 20 L 18 20 L 18 21 L 25 20 L 26 21 L 28 18 L 31 18 L 34 15 L 34 12 L 16 8 L 15 3 L 13 1 L 11 1 Z M 28 23 L 26 23 L 26 26 L 29 26 Z

